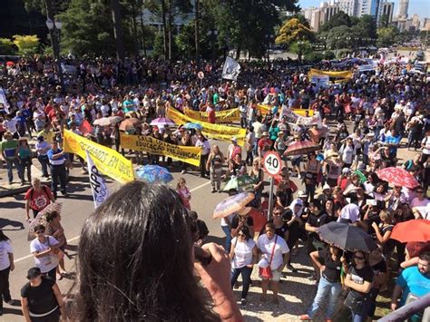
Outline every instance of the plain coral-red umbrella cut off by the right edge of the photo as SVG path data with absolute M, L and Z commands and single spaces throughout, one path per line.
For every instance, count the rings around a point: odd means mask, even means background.
M 430 240 L 430 220 L 408 220 L 396 224 L 391 239 L 400 242 Z

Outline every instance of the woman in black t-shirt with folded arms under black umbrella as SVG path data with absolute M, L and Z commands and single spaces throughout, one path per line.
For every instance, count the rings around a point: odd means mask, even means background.
M 353 264 L 347 270 L 344 285 L 349 288 L 345 307 L 351 310 L 353 322 L 365 322 L 371 309 L 371 290 L 374 272 L 367 262 L 364 251 L 356 251 Z

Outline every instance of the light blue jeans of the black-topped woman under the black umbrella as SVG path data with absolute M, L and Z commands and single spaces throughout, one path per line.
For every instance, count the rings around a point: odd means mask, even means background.
M 314 298 L 314 302 L 308 309 L 308 316 L 312 318 L 318 311 L 321 303 L 327 301 L 326 318 L 331 318 L 335 313 L 337 298 L 342 290 L 340 283 L 329 282 L 326 278 L 319 278 L 317 295 Z

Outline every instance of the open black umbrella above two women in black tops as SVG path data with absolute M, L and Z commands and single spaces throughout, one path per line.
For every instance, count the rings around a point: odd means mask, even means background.
M 329 222 L 317 229 L 319 238 L 339 249 L 370 252 L 376 242 L 365 230 L 343 222 Z

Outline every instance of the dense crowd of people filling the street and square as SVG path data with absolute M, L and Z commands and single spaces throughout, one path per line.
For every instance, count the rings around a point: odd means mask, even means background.
M 304 69 L 289 68 L 292 66 L 285 62 L 244 63 L 238 82 L 221 81 L 216 63 L 167 63 L 147 58 L 116 63 L 102 57 L 64 63 L 73 67 L 64 88 L 59 86 L 54 62 L 49 58 L 22 59 L 0 72 L 0 87 L 8 102 L 0 103 L 1 151 L 8 181 L 14 182 L 15 168 L 23 185 L 25 181 L 33 185 L 24 197 L 25 220 L 34 220 L 58 198 L 59 184 L 67 197 L 67 172 L 77 162 L 72 153 L 63 150 L 64 129 L 113 147 L 136 163 L 161 164 L 181 171 L 182 177 L 176 192 L 137 181 L 124 185 L 90 216 L 79 246 L 74 289 L 78 296 L 72 307 L 65 307 L 55 283 L 56 278 L 67 274 L 61 215 L 48 213 L 46 225 L 33 228 L 36 238 L 30 249 L 35 268 L 28 271 L 29 283 L 21 292 L 27 321 L 54 321 L 68 314 L 80 320 L 169 317 L 240 321 L 231 291 L 239 276 L 243 284 L 240 305 L 247 305 L 254 266 L 259 268 L 261 300 L 269 300 L 270 290 L 270 300 L 279 303 L 279 282 L 286 272 L 297 271 L 294 254 L 299 244 L 305 244 L 314 268 L 309 279 L 318 285 L 312 305 L 307 311 L 303 307 L 300 320 L 311 320 L 328 297 L 325 317 L 331 321 L 342 289 L 348 289 L 343 305 L 351 311 L 351 320 L 366 321 L 375 313 L 377 295 L 386 291 L 397 272 L 393 309 L 405 305 L 411 296 L 419 298 L 430 292 L 429 241 L 401 243 L 390 239 L 399 223 L 430 220 L 426 196 L 430 182 L 430 80 L 425 75 L 407 73 L 400 62 L 380 63 L 373 72 L 354 70 L 344 83 L 324 88 L 312 83 Z M 329 63 L 325 67 L 328 69 Z M 200 71 L 205 73 L 204 87 L 197 78 Z M 270 105 L 269 111 L 260 109 L 261 104 Z M 232 137 L 227 151 L 221 151 L 200 130 L 187 130 L 181 124 L 175 128 L 150 125 L 153 119 L 165 117 L 169 109 L 216 112 L 231 108 L 239 108 L 239 126 L 246 129 L 247 136 L 244 146 Z M 321 122 L 291 124 L 283 109 L 310 110 Z M 214 114 L 210 115 L 208 121 L 215 122 Z M 161 155 L 124 151 L 120 122 L 97 124 L 106 117 L 139 119 L 138 125 L 124 131 L 126 134 L 200 147 L 200 168 L 192 169 L 185 162 Z M 91 132 L 83 132 L 84 122 L 92 126 Z M 34 147 L 29 144 L 32 138 L 36 140 Z M 406 162 L 399 162 L 397 155 L 402 139 L 406 139 L 403 149 L 416 151 Z M 319 148 L 286 156 L 288 147 L 300 141 L 310 141 Z M 278 151 L 283 164 L 273 218 L 257 224 L 253 213 L 268 210 L 267 174 L 261 162 L 267 151 Z M 34 155 L 44 177 L 52 178 L 51 187 L 32 177 Z M 83 159 L 77 161 L 86 171 Z M 396 166 L 417 182 L 415 187 L 393 186 L 376 174 Z M 250 189 L 254 200 L 220 222 L 226 235 L 224 250 L 205 244 L 208 229 L 197 214 L 190 216 L 187 171 L 209 177 L 213 193 L 221 192 L 223 181 L 229 178 L 249 176 L 254 182 Z M 297 177 L 300 187 L 290 177 Z M 130 201 L 133 199 L 135 202 Z M 131 216 L 135 213 L 140 216 Z M 347 251 L 327 244 L 320 239 L 318 229 L 329 222 L 363 229 L 375 240 L 377 249 Z M 192 224 L 197 226 L 198 238 L 191 234 Z M 13 251 L 2 235 L 0 285 L 8 302 Z M 101 248 L 106 239 L 112 241 L 112 249 L 130 251 Z M 210 253 L 209 265 L 193 265 L 193 242 Z M 180 244 L 190 248 L 178 247 Z M 112 266 L 112 262 L 118 265 Z M 195 282 L 193 267 L 210 293 L 211 304 Z M 124 271 L 130 276 L 125 278 Z M 180 293 L 186 296 L 178 297 Z

